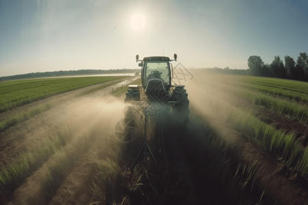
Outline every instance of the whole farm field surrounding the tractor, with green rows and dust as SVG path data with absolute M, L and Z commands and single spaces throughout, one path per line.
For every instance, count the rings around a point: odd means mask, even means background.
M 114 135 L 140 79 L 1 82 L 0 203 L 308 204 L 308 83 L 192 71 L 146 170 Z

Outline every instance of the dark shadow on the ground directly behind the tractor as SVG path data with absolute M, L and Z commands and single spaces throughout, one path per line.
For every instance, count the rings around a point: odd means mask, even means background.
M 192 102 L 191 99 L 190 102 Z M 125 198 L 129 199 L 131 204 L 204 204 L 205 202 L 209 204 L 240 204 L 242 202 L 244 204 L 251 200 L 248 199 L 248 195 L 238 192 L 242 188 L 240 182 L 235 180 L 236 166 L 235 170 L 234 167 L 231 170 L 231 159 L 225 154 L 224 143 L 216 137 L 214 129 L 204 122 L 203 113 L 192 108 L 187 126 L 177 123 L 180 115 L 164 114 L 162 129 L 166 156 L 159 155 L 157 152 L 159 136 L 157 131 L 155 133 L 157 124 L 153 120 L 149 124 L 149 127 L 152 127 L 149 128 L 152 132 L 149 132 L 149 146 L 157 164 L 153 162 L 149 154 L 148 169 L 144 172 L 147 176 L 143 175 L 142 186 L 132 193 L 132 191 L 125 190 L 129 187 L 114 185 L 112 191 L 107 190 L 108 194 L 106 193 L 108 197 L 114 195 L 114 198 L 109 198 L 110 201 L 105 202 L 102 197 L 99 199 L 101 202 L 120 204 L 121 201 L 118 201 L 118 198 Z M 140 146 L 135 148 L 137 152 L 124 150 L 125 155 L 129 156 L 128 158 L 132 161 L 136 160 Z M 124 167 L 131 167 L 132 161 L 127 160 Z M 105 163 L 108 164 L 108 161 Z M 140 164 L 142 164 L 142 159 L 138 165 Z M 236 165 L 235 161 L 233 161 L 234 164 Z M 116 165 L 114 167 L 120 169 Z M 136 172 L 138 168 L 135 169 Z M 123 172 L 127 171 L 123 169 Z M 121 174 L 112 175 L 112 177 L 114 180 L 124 178 Z M 110 184 L 116 184 L 116 182 L 110 182 Z M 125 181 L 124 184 L 126 183 L 129 184 Z M 251 184 L 251 180 L 246 183 Z M 101 190 L 105 190 L 104 185 L 104 183 L 101 184 Z M 123 195 L 116 197 L 119 193 Z M 130 193 L 130 195 L 125 195 L 125 193 Z

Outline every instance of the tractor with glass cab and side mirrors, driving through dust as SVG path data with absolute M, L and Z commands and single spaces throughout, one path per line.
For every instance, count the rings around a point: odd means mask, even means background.
M 177 61 L 177 54 L 174 57 L 152 56 L 139 60 L 139 55 L 136 55 L 136 61 L 140 62 L 142 85 L 129 85 L 125 103 L 137 102 L 140 105 L 140 102 L 146 101 L 154 105 L 155 111 L 160 110 L 163 115 L 167 112 L 175 117 L 172 121 L 185 126 L 189 120 L 190 101 L 185 85 L 172 85 L 173 68 L 170 61 Z

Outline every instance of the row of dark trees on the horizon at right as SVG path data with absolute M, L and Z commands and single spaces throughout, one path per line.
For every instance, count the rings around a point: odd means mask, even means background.
M 252 55 L 248 58 L 248 68 L 254 76 L 308 81 L 308 55 L 305 52 L 300 53 L 296 61 L 286 55 L 284 64 L 279 55 L 274 57 L 272 64 L 264 64 L 261 57 Z

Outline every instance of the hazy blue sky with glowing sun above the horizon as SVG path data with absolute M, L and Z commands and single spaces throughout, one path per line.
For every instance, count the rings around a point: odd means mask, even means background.
M 138 68 L 136 55 L 186 68 L 246 69 L 308 52 L 307 0 L 0 0 L 0 77 Z

